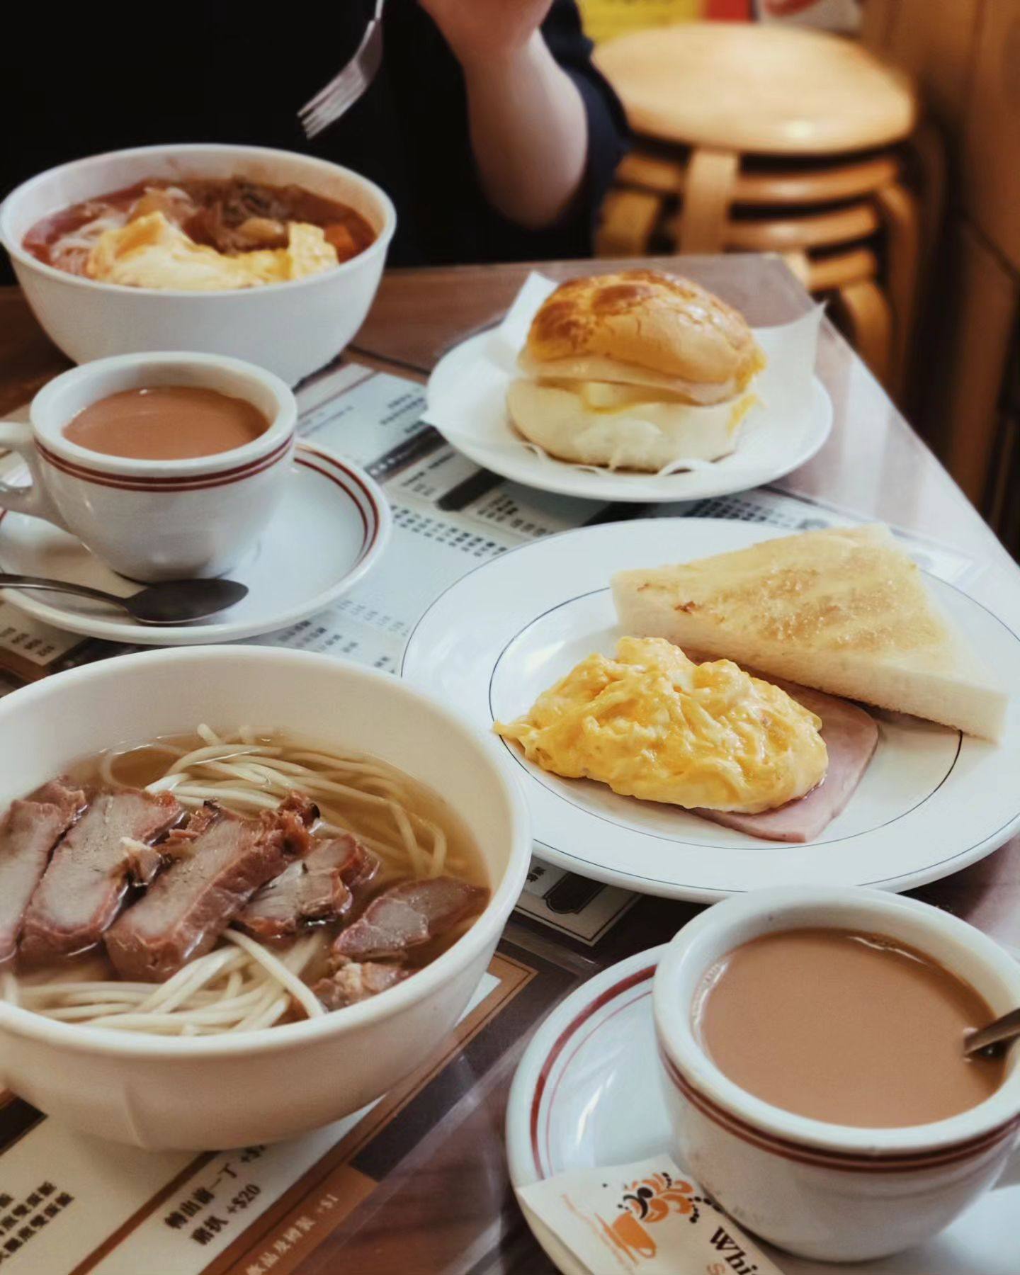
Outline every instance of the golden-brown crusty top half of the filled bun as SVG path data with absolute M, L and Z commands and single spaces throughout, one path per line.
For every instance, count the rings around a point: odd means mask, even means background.
M 520 366 L 532 376 L 608 380 L 722 402 L 761 367 L 741 314 L 690 279 L 621 270 L 561 284 L 536 314 Z

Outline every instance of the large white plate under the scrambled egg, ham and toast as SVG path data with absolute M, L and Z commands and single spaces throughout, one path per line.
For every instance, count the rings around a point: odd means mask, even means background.
M 525 713 L 621 630 L 609 576 L 785 536 L 724 519 L 652 518 L 565 532 L 504 553 L 425 613 L 403 676 L 488 729 Z M 929 578 L 943 608 L 1006 685 L 1020 686 L 1020 639 L 952 585 Z M 504 741 L 528 782 L 542 858 L 627 890 L 711 901 L 765 885 L 907 890 L 991 853 L 1020 826 L 1020 704 L 1003 743 L 875 711 L 878 747 L 847 808 L 817 841 L 747 836 L 680 810 L 560 779 Z

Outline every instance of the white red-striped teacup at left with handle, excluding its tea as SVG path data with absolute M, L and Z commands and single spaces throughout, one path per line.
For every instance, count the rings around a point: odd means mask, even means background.
M 195 385 L 252 403 L 269 428 L 231 451 L 138 460 L 64 437 L 83 408 L 121 390 Z M 76 536 L 134 580 L 223 575 L 254 546 L 287 482 L 297 404 L 272 372 L 218 354 L 121 354 L 83 363 L 32 400 L 31 425 L 0 425 L 32 483 L 0 483 L 0 507 L 43 518 Z

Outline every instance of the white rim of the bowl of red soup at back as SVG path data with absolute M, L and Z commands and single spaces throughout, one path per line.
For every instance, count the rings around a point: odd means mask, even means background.
M 8 218 L 11 215 L 10 210 L 15 207 L 19 198 L 28 194 L 36 186 L 41 186 L 43 182 L 57 176 L 59 173 L 70 172 L 71 170 L 101 167 L 105 161 L 117 158 L 117 159 L 134 159 L 144 158 L 147 156 L 166 156 L 166 154 L 223 154 L 223 156 L 240 156 L 245 157 L 261 157 L 266 161 L 275 159 L 300 159 L 307 162 L 314 167 L 321 168 L 324 172 L 340 172 L 344 177 L 351 177 L 354 182 L 360 182 L 370 195 L 379 203 L 382 210 L 382 228 L 376 235 L 375 240 L 363 251 L 358 252 L 357 256 L 352 256 L 348 261 L 339 261 L 337 265 L 332 265 L 328 270 L 321 270 L 319 274 L 309 274 L 303 279 L 287 279 L 282 283 L 264 283 L 258 287 L 250 288 L 210 288 L 207 291 L 194 291 L 189 288 L 136 288 L 126 283 L 107 283 L 103 279 L 88 279 L 82 274 L 69 274 L 66 270 L 57 270 L 55 265 L 47 265 L 46 261 L 40 261 L 37 256 L 28 252 L 22 242 L 13 235 L 8 233 Z M 102 191 L 99 191 L 102 194 Z M 363 265 L 370 258 L 385 255 L 389 247 L 390 240 L 393 238 L 394 231 L 397 229 L 397 209 L 393 205 L 393 200 L 377 186 L 370 177 L 363 177 L 360 172 L 353 168 L 347 168 L 344 164 L 333 163 L 330 159 L 320 159 L 317 156 L 307 156 L 301 150 L 282 150 L 278 147 L 250 147 L 231 143 L 219 142 L 181 142 L 181 143 L 168 143 L 161 145 L 150 147 L 129 147 L 124 150 L 103 150 L 99 154 L 84 156 L 80 159 L 69 159 L 66 163 L 56 164 L 52 168 L 46 168 L 43 172 L 36 173 L 34 177 L 29 177 L 23 181 L 19 186 L 11 190 L 3 203 L 0 203 L 0 244 L 10 254 L 11 259 L 17 260 L 20 265 L 31 270 L 37 270 L 38 273 L 46 275 L 47 278 L 59 280 L 61 283 L 70 283 L 76 287 L 83 288 L 98 288 L 105 292 L 121 292 L 129 293 L 131 296 L 144 296 L 144 297 L 204 297 L 208 300 L 223 300 L 224 297 L 237 297 L 252 293 L 255 296 L 263 296 L 266 289 L 270 293 L 277 293 L 284 288 L 303 288 L 314 283 L 321 283 L 323 279 L 335 279 L 340 274 L 353 273 L 360 265 Z

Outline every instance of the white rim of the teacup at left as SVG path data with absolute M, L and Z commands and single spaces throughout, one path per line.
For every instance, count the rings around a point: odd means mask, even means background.
M 34 422 L 36 411 L 45 412 L 50 400 L 66 389 L 69 384 L 88 381 L 91 376 L 102 376 L 103 372 L 117 372 L 133 367 L 150 367 L 153 376 L 159 376 L 159 370 L 164 365 L 193 365 L 196 372 L 201 368 L 219 368 L 245 376 L 250 381 L 258 381 L 263 389 L 269 390 L 277 400 L 277 412 L 261 433 L 250 442 L 241 444 L 240 448 L 231 448 L 228 451 L 214 451 L 205 456 L 180 456 L 172 460 L 143 460 L 134 456 L 116 456 L 103 451 L 92 451 L 78 442 L 73 442 L 65 436 L 64 426 L 41 428 Z M 116 391 L 115 391 L 116 393 Z M 97 402 L 93 399 L 93 402 Z M 250 400 L 249 400 L 250 402 Z M 187 477 L 193 473 L 217 473 L 221 469 L 231 469 L 237 464 L 246 464 L 249 460 L 258 460 L 269 451 L 280 446 L 287 439 L 295 436 L 297 427 L 297 402 L 293 390 L 287 382 L 270 372 L 266 367 L 260 367 L 245 358 L 233 358 L 228 354 L 203 354 L 191 349 L 153 349 L 139 351 L 130 354 L 110 354 L 106 358 L 92 358 L 87 363 L 76 363 L 66 371 L 60 372 L 47 381 L 32 399 L 31 409 L 32 430 L 40 435 L 46 446 L 57 455 L 76 460 L 79 464 L 89 465 L 103 473 L 112 474 L 180 474 Z

